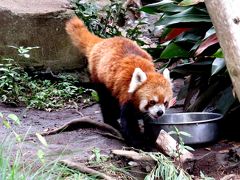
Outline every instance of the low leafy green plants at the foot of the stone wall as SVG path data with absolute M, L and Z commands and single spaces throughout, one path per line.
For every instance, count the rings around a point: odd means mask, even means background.
M 29 58 L 29 51 L 37 47 L 14 48 L 21 57 Z M 60 74 L 58 81 L 41 80 L 38 76 L 30 76 L 14 59 L 5 58 L 3 61 L 5 63 L 0 64 L 1 102 L 51 110 L 72 101 L 88 103 L 98 100 L 95 91 L 77 86 L 76 77 Z

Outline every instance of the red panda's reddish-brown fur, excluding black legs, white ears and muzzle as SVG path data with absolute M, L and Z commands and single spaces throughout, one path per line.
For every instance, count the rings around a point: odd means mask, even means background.
M 153 94 L 163 103 L 164 97 L 172 96 L 168 80 L 155 72 L 151 56 L 135 42 L 123 37 L 99 38 L 77 17 L 67 22 L 66 31 L 73 44 L 87 56 L 92 81 L 105 84 L 120 104 L 132 99 L 139 106 L 141 99 L 150 99 Z M 137 67 L 146 73 L 147 81 L 129 94 L 131 77 Z

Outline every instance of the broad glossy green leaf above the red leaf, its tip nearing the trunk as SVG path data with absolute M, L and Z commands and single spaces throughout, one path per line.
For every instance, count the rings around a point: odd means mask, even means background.
M 156 25 L 165 25 L 166 27 L 179 27 L 186 25 L 192 27 L 196 26 L 196 23 L 201 27 L 201 23 L 211 23 L 211 19 L 206 10 L 189 7 L 188 9 L 174 14 L 174 15 L 163 15 L 159 21 L 156 22 Z

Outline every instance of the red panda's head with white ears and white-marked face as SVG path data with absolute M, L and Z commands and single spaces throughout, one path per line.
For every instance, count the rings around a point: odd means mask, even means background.
M 136 108 L 157 119 L 165 113 L 172 100 L 173 92 L 169 70 L 163 74 L 158 72 L 143 72 L 136 68 L 129 85 L 129 93 Z

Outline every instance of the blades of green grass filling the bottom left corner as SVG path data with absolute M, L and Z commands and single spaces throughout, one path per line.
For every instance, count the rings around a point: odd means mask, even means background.
M 96 180 L 94 176 L 87 176 L 76 170 L 58 164 L 58 159 L 41 163 L 36 157 L 35 162 L 25 162 L 23 152 L 14 152 L 14 145 L 10 143 L 10 136 L 0 144 L 0 179 L 1 180 Z

